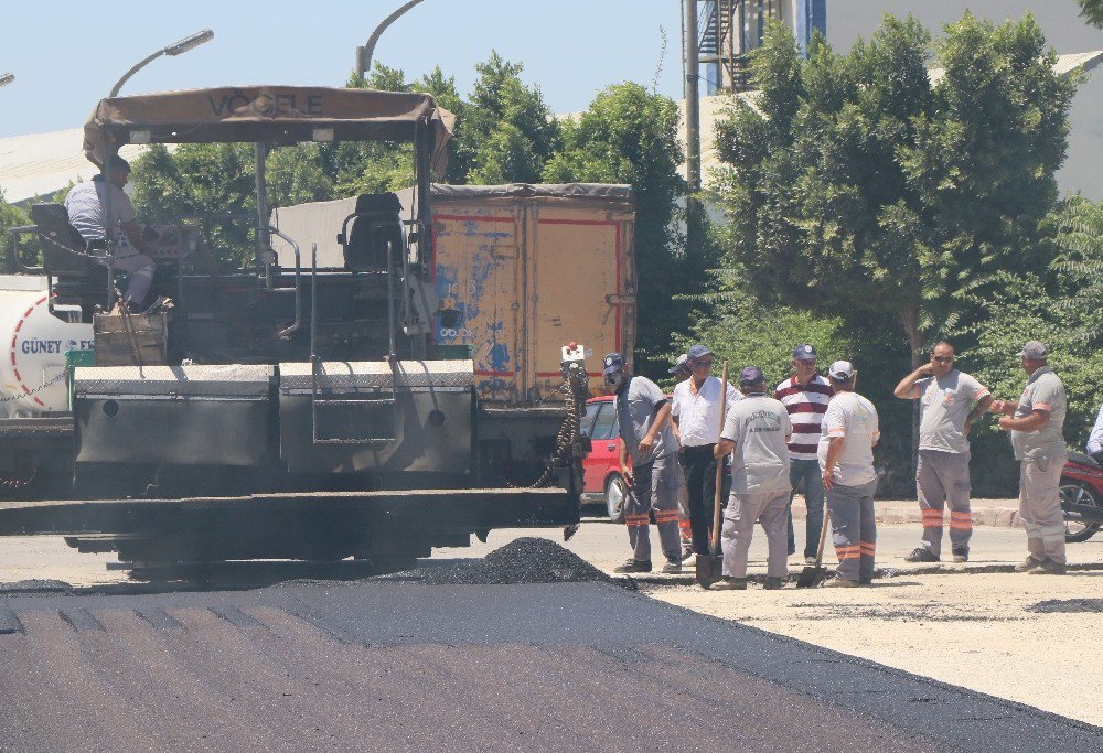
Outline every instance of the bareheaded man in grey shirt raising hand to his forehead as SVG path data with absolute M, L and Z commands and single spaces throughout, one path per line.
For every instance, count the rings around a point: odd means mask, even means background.
M 943 341 L 931 361 L 906 376 L 893 395 L 919 400 L 919 460 L 915 486 L 923 514 L 921 546 L 908 562 L 938 562 L 942 558 L 943 510 L 950 503 L 950 546 L 955 562 L 968 560 L 973 536 L 970 510 L 968 430 L 992 404 L 988 388 L 954 368 L 954 346 Z

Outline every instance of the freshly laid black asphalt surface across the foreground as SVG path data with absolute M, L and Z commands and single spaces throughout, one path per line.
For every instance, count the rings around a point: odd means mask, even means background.
M 12 594 L 0 749 L 1099 751 L 1103 730 L 603 582 Z

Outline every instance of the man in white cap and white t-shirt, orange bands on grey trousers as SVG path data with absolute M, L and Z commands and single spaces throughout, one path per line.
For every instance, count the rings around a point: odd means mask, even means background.
M 824 413 L 818 454 L 838 570 L 824 585 L 868 585 L 877 549 L 874 445 L 881 435 L 877 409 L 854 391 L 850 362 L 836 361 L 827 376 L 835 396 Z

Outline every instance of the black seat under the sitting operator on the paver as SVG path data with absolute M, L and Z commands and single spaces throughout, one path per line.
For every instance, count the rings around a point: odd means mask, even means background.
M 90 315 L 95 304 L 106 303 L 107 267 L 96 262 L 61 204 L 32 204 L 31 219 L 43 240 L 42 268 L 54 278 L 54 302 L 79 305 Z

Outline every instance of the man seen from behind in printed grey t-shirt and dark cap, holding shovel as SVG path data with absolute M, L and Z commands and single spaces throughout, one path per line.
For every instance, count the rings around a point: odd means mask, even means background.
M 747 550 L 754 524 L 761 521 L 769 542 L 765 587 L 780 589 L 789 574 L 785 518 L 789 510 L 789 442 L 793 424 L 785 406 L 765 394 L 758 366 L 739 374 L 743 399 L 728 411 L 715 449 L 731 453 L 731 496 L 724 510 L 724 579 L 714 589 L 747 588 Z

